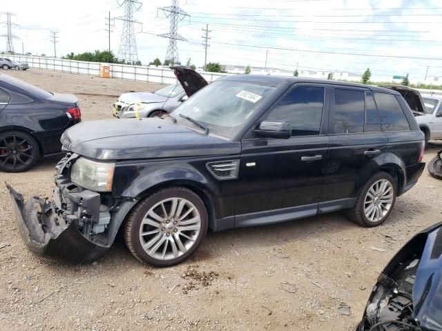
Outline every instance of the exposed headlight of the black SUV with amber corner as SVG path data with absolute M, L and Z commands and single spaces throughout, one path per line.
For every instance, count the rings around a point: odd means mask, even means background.
M 88 190 L 111 192 L 115 163 L 97 162 L 80 157 L 70 170 L 70 180 Z

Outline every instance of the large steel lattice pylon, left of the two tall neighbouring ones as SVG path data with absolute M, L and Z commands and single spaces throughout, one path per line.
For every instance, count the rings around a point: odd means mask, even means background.
M 122 39 L 119 42 L 118 59 L 126 61 L 126 63 L 135 63 L 138 61 L 137 41 L 135 40 L 135 30 L 133 23 L 139 23 L 133 20 L 133 12 L 140 10 L 142 3 L 136 0 L 124 0 L 117 3 L 120 7 L 124 5 L 124 17 L 115 17 L 123 21 Z

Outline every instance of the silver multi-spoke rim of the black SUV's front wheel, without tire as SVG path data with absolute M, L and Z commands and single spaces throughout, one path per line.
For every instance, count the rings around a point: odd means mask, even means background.
M 168 198 L 156 203 L 144 215 L 140 243 L 154 259 L 176 259 L 193 246 L 200 229 L 200 212 L 191 201 Z

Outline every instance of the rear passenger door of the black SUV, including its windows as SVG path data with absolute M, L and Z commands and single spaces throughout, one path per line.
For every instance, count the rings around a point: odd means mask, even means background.
M 374 171 L 371 167 L 376 168 L 376 157 L 387 148 L 372 92 L 347 86 L 334 88 L 329 137 L 320 212 L 330 211 L 327 204 L 335 209 L 351 207 L 358 189 Z

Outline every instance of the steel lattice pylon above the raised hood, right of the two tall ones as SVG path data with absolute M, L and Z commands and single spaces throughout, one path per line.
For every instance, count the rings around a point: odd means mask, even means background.
M 184 12 L 184 10 L 178 6 L 178 0 L 172 0 L 172 6 L 158 8 L 158 10 L 162 10 L 166 17 L 171 18 L 171 27 L 169 33 L 158 34 L 158 37 L 169 39 L 169 46 L 167 48 L 166 59 L 164 59 L 164 61 L 169 60 L 171 64 L 180 63 L 180 57 L 178 57 L 177 40 L 187 40 L 178 34 L 178 21 L 182 21 L 185 17 L 190 17 L 190 15 Z

